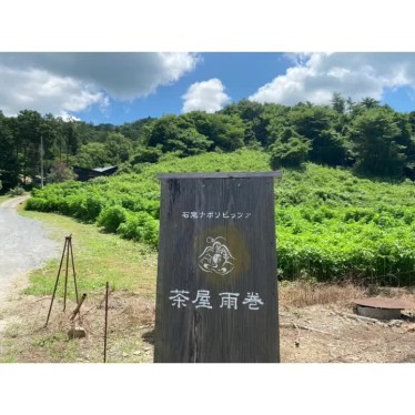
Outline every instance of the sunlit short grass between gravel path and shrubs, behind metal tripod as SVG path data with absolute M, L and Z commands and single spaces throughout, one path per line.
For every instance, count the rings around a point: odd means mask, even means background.
M 19 208 L 20 214 L 26 217 L 43 222 L 50 236 L 61 242 L 63 250 L 64 237 L 72 234 L 72 247 L 79 294 L 87 295 L 104 292 L 105 283 L 111 290 L 128 290 L 145 298 L 155 298 L 156 253 L 150 247 L 125 241 L 117 235 L 101 232 L 97 226 L 80 223 L 74 219 L 59 214 L 24 211 Z M 33 271 L 30 285 L 26 294 L 51 295 L 61 260 L 52 260 L 40 270 Z M 63 296 L 63 281 L 65 261 L 63 263 L 58 296 Z M 71 262 L 69 264 L 68 293 L 74 296 Z

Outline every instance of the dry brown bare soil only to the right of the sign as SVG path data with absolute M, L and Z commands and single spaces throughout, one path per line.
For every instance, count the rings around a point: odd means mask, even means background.
M 347 308 L 318 305 L 289 310 L 281 320 L 294 324 L 280 332 L 282 362 L 415 362 L 415 324 L 411 321 L 367 323 L 340 312 L 352 313 Z M 296 328 L 300 326 L 322 333 Z

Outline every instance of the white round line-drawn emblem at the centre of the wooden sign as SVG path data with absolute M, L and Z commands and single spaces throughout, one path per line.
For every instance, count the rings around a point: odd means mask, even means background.
M 208 246 L 199 255 L 199 266 L 204 272 L 213 272 L 219 275 L 226 275 L 234 269 L 234 257 L 229 247 L 221 241 L 226 242 L 222 236 L 206 237 Z

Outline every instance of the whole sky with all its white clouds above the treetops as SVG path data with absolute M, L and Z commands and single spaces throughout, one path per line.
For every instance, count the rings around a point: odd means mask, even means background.
M 0 109 L 123 124 L 249 99 L 328 104 L 340 92 L 415 110 L 415 53 L 2 52 Z

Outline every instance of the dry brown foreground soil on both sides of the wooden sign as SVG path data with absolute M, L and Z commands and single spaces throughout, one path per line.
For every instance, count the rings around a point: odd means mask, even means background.
M 292 285 L 280 289 L 281 362 L 415 362 L 415 323 L 411 314 L 398 321 L 354 320 L 348 316 L 353 314 L 348 296 L 364 294 L 360 289 L 296 285 L 295 289 Z M 325 298 L 324 304 L 295 305 L 298 301 L 304 303 L 304 292 L 320 295 L 321 302 Z M 412 290 L 383 289 L 378 294 L 415 298 Z M 344 295 L 343 300 L 340 295 Z M 75 304 L 69 302 L 63 313 L 59 298 L 53 303 L 50 322 L 44 327 L 50 300 L 21 295 L 19 286 L 16 287 L 7 310 L 1 312 L 1 317 L 8 318 L 8 327 L 0 342 L 0 362 L 103 362 L 104 298 L 88 298 L 75 323 L 70 321 Z M 308 298 L 308 303 L 312 302 L 313 298 Z M 131 292 L 114 291 L 110 294 L 109 305 L 107 362 L 151 363 L 154 303 Z M 69 340 L 67 333 L 74 325 L 81 325 L 87 337 Z

